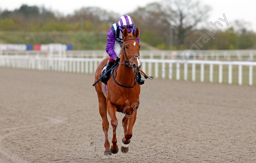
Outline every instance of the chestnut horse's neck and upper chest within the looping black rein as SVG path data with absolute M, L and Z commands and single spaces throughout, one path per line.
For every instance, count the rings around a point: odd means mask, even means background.
M 124 62 L 123 54 L 120 55 L 120 63 Z M 130 66 L 119 65 L 116 71 L 117 81 L 120 81 L 120 84 L 132 86 L 134 84 L 135 73 Z

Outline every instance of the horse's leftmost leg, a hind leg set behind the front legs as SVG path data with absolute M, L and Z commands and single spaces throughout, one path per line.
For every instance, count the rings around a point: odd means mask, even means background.
M 102 92 L 98 93 L 98 98 L 99 98 L 99 111 L 100 111 L 100 115 L 101 115 L 101 118 L 102 118 L 102 129 L 103 129 L 104 135 L 105 135 L 104 155 L 109 156 L 109 155 L 112 155 L 112 154 L 110 152 L 110 144 L 109 144 L 109 141 L 108 141 L 109 122 L 108 122 L 108 117 L 107 117 L 106 98 L 105 98 L 105 96 L 103 95 Z

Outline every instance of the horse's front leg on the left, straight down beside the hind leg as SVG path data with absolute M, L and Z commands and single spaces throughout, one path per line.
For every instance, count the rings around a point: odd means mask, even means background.
M 118 145 L 117 139 L 116 139 L 116 128 L 118 125 L 118 121 L 116 118 L 116 110 L 117 108 L 110 102 L 108 101 L 108 114 L 111 117 L 111 125 L 113 128 L 113 138 L 112 138 L 112 145 L 110 148 L 111 153 L 116 154 L 118 152 Z

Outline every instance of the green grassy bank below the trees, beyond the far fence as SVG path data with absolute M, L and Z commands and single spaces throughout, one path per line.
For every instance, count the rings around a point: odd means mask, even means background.
M 74 50 L 105 50 L 107 37 L 106 32 L 0 32 L 0 44 L 62 43 L 73 45 Z

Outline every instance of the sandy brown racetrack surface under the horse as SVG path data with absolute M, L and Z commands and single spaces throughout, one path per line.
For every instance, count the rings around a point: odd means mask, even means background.
M 94 75 L 0 68 L 0 162 L 256 162 L 256 87 L 154 81 L 106 157 Z

